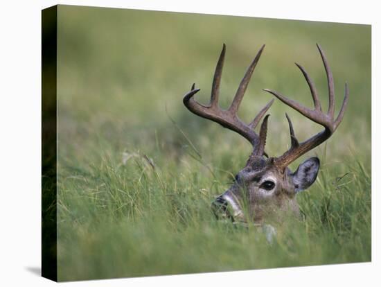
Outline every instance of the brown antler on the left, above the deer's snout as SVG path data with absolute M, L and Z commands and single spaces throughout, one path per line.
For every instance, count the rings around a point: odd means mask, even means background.
M 267 105 L 265 105 L 265 107 L 263 107 L 263 109 L 260 110 L 260 112 L 256 115 L 254 120 L 251 121 L 251 123 L 249 124 L 243 123 L 238 118 L 237 111 L 242 101 L 242 98 L 245 95 L 245 91 L 247 89 L 247 85 L 249 84 L 251 75 L 254 72 L 256 64 L 258 63 L 258 60 L 264 48 L 265 45 L 263 45 L 260 48 L 256 55 L 256 58 L 254 58 L 253 62 L 251 62 L 249 68 L 245 73 L 245 76 L 242 78 L 240 82 L 240 86 L 237 89 L 236 96 L 234 96 L 233 102 L 231 103 L 228 110 L 222 110 L 218 106 L 222 67 L 224 65 L 224 57 L 226 50 L 225 44 L 222 47 L 220 58 L 218 59 L 217 66 L 215 67 L 211 92 L 211 102 L 209 103 L 209 105 L 202 105 L 194 100 L 193 96 L 200 91 L 200 89 L 195 89 L 195 84 L 192 85 L 190 92 L 188 92 L 188 94 L 186 94 L 183 99 L 184 105 L 188 108 L 188 110 L 190 110 L 190 112 L 193 112 L 193 114 L 197 114 L 197 116 L 201 116 L 205 119 L 210 119 L 211 121 L 220 123 L 220 125 L 222 125 L 224 128 L 228 128 L 229 130 L 238 132 L 238 134 L 242 135 L 242 137 L 245 137 L 245 139 L 247 139 L 254 148 L 253 154 L 260 156 L 264 153 L 267 120 L 263 121 L 262 123 L 262 126 L 260 128 L 260 136 L 258 136 L 258 134 L 254 132 L 254 128 L 256 128 L 256 126 L 260 122 L 260 119 L 263 118 L 267 110 L 269 110 L 269 107 L 274 102 L 274 99 L 272 99 L 272 101 L 269 101 L 269 103 L 267 103 Z

